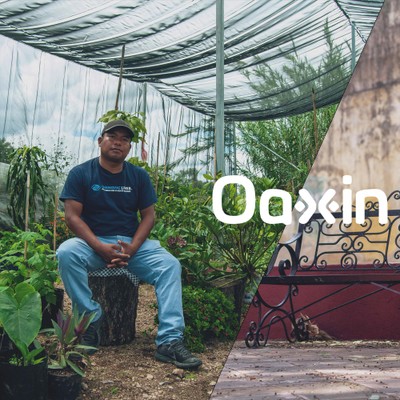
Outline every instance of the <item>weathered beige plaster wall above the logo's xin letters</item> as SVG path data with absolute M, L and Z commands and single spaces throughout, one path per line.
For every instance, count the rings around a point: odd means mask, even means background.
M 305 187 L 400 188 L 400 1 L 386 0 Z M 337 198 L 341 204 L 341 196 Z

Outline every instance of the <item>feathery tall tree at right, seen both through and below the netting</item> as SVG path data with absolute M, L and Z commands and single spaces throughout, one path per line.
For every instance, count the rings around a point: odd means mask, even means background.
M 242 173 L 273 178 L 278 187 L 293 192 L 302 187 L 337 108 L 334 104 L 317 109 L 319 94 L 332 91 L 334 82 L 343 82 L 344 90 L 349 76 L 349 60 L 343 49 L 335 45 L 328 21 L 324 34 L 327 50 L 319 65 L 294 52 L 286 56 L 287 63 L 279 71 L 260 64 L 245 72 L 264 107 L 274 108 L 305 99 L 308 112 L 240 123 L 240 148 L 244 154 L 242 159 L 246 160 Z M 276 95 L 267 95 L 270 93 Z

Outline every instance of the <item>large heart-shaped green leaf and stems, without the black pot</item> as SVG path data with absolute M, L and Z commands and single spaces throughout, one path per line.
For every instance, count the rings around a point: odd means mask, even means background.
M 0 287 L 0 324 L 19 351 L 10 363 L 27 366 L 43 361 L 44 349 L 36 340 L 41 322 L 42 303 L 32 285 L 21 282 L 15 289 Z

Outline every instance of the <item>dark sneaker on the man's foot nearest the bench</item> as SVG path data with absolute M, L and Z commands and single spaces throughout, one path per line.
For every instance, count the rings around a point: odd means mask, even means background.
M 158 361 L 175 364 L 182 369 L 195 369 L 202 364 L 201 360 L 185 348 L 181 340 L 158 346 L 155 357 Z

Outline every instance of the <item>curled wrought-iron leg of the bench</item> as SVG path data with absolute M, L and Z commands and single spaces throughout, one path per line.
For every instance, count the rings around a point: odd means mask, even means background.
M 258 322 L 250 322 L 249 331 L 245 337 L 247 347 L 266 346 L 271 328 L 275 324 L 280 324 L 289 342 L 305 339 L 301 324 L 298 324 L 299 321 L 296 321 L 293 307 L 293 297 L 298 292 L 299 290 L 296 285 L 289 285 L 283 299 L 275 305 L 268 303 L 259 291 L 256 292 L 252 305 L 258 309 Z M 264 314 L 263 306 L 267 308 Z M 291 325 L 290 329 L 288 329 L 289 324 Z

